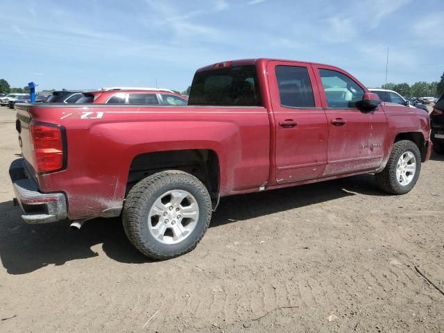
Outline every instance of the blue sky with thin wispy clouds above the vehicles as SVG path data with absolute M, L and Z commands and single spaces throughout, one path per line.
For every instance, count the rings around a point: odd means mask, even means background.
M 186 89 L 239 58 L 336 65 L 368 87 L 438 80 L 443 0 L 0 1 L 0 78 L 39 89 Z

